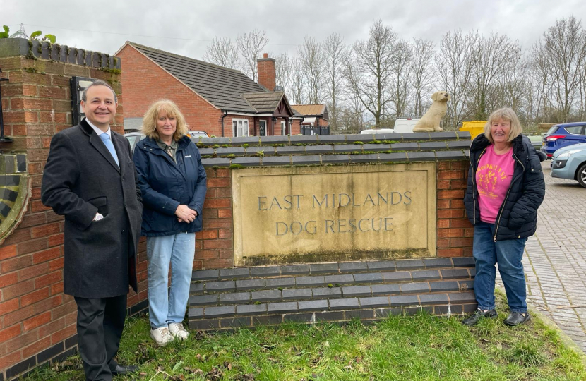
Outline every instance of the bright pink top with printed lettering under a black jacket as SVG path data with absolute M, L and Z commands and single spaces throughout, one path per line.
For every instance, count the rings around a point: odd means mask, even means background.
M 510 181 L 513 179 L 515 159 L 513 147 L 503 155 L 496 155 L 494 145 L 486 147 L 476 170 L 476 186 L 480 220 L 494 224 L 498 210 L 505 200 Z

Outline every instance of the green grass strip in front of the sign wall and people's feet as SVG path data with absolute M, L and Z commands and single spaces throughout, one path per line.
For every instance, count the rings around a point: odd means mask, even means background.
M 498 309 L 506 304 L 498 297 Z M 477 327 L 425 313 L 374 325 L 282 325 L 192 332 L 157 348 L 146 317 L 128 319 L 118 359 L 141 374 L 114 380 L 586 380 L 578 353 L 533 317 L 506 327 L 501 313 Z M 84 380 L 79 356 L 35 370 L 28 381 Z

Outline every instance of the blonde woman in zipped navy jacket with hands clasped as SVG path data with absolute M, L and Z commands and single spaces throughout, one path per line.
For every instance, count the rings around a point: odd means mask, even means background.
M 183 326 L 201 210 L 207 189 L 201 155 L 177 105 L 163 99 L 143 117 L 134 164 L 143 193 L 150 337 L 159 346 L 186 339 Z M 167 282 L 171 265 L 171 291 Z

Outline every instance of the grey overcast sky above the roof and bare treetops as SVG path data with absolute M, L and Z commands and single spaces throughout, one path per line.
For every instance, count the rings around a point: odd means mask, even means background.
M 530 47 L 557 19 L 586 28 L 585 0 L 0 0 L 0 23 L 16 32 L 42 30 L 57 42 L 114 54 L 127 40 L 201 59 L 213 37 L 235 40 L 266 31 L 273 56 L 293 53 L 304 37 L 337 32 L 351 44 L 381 18 L 400 37 L 438 42 L 447 30 L 507 34 Z M 124 63 L 123 63 L 124 66 Z

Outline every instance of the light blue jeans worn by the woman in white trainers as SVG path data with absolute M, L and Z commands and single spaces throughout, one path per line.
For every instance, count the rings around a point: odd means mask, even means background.
M 196 251 L 196 234 L 147 237 L 148 312 L 150 327 L 167 327 L 184 320 Z M 171 291 L 168 292 L 169 263 Z

